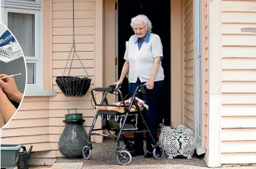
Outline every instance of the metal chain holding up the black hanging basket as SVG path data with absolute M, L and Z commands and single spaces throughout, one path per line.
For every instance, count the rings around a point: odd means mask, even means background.
M 72 36 L 72 38 L 73 38 L 73 45 L 72 45 L 72 47 L 71 47 L 71 51 L 70 51 L 70 54 L 69 54 L 69 56 L 68 56 L 67 64 L 65 65 L 65 68 L 64 68 L 63 76 L 64 76 L 64 74 L 65 74 L 65 70 L 66 70 L 66 68 L 67 68 L 68 61 L 70 60 L 70 56 L 71 56 L 71 52 L 72 52 L 72 49 L 73 49 L 73 48 L 74 48 L 74 53 L 73 53 L 72 60 L 71 60 L 71 64 L 70 64 L 70 71 L 71 71 L 72 63 L 73 63 L 73 61 L 74 61 L 75 54 L 76 54 L 76 57 L 78 57 L 78 59 L 79 59 L 81 65 L 82 65 L 83 69 L 85 69 L 85 67 L 83 66 L 83 63 L 82 63 L 81 59 L 79 58 L 79 56 L 78 56 L 78 54 L 76 53 L 76 50 L 75 50 L 75 3 L 74 3 L 74 0 L 72 0 L 72 1 L 73 1 L 73 2 L 72 2 L 72 5 L 73 5 L 73 36 Z M 68 76 L 70 76 L 70 71 L 68 72 Z M 86 74 L 87 74 L 87 76 L 88 76 L 88 78 L 89 78 L 89 75 L 88 75 L 86 69 L 85 69 L 85 72 L 86 72 Z

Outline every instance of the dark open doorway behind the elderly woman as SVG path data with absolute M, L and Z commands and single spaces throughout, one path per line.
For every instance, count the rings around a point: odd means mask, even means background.
M 126 50 L 126 41 L 134 34 L 130 21 L 132 17 L 138 14 L 145 14 L 152 22 L 152 32 L 158 34 L 163 45 L 162 67 L 164 69 L 164 85 L 159 106 L 158 124 L 162 123 L 167 126 L 171 125 L 171 31 L 170 31 L 170 1 L 146 1 L 146 0 L 130 0 L 118 1 L 116 3 L 116 58 L 117 71 L 116 80 L 119 79 L 125 60 L 123 56 Z M 122 88 L 123 97 L 128 94 L 128 80 L 123 80 Z M 126 97 L 126 99 L 128 96 Z M 174 98 L 175 99 L 175 98 Z M 118 98 L 120 100 L 120 97 Z

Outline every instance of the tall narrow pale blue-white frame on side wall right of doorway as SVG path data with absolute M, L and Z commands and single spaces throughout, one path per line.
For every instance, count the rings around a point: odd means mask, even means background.
M 195 138 L 202 145 L 202 1 L 194 0 L 194 119 Z M 200 132 L 200 133 L 199 133 Z

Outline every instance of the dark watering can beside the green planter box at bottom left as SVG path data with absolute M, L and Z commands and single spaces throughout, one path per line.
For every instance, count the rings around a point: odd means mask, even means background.
M 22 147 L 23 152 L 20 152 L 19 160 L 17 163 L 18 169 L 28 169 L 28 167 L 30 166 L 30 153 L 32 148 L 33 146 L 31 145 L 30 149 L 27 152 L 25 146 Z

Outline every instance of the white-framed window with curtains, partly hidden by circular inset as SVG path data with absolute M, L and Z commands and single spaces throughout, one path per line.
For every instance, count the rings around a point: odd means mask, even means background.
M 4 0 L 2 3 L 2 23 L 23 49 L 27 63 L 27 90 L 42 90 L 42 2 Z

